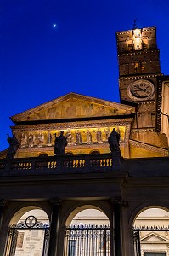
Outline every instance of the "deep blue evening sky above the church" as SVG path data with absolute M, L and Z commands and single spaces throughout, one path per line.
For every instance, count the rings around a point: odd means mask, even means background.
M 69 92 L 119 102 L 115 32 L 135 18 L 156 26 L 169 74 L 168 13 L 168 0 L 0 0 L 0 150 L 28 108 Z

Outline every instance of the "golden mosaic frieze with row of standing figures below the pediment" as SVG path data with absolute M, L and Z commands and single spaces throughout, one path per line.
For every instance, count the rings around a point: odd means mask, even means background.
M 92 127 L 79 129 L 62 129 L 67 137 L 68 145 L 92 145 L 108 143 L 110 132 L 115 127 L 121 135 L 120 143 L 125 141 L 126 126 Z M 20 148 L 42 148 L 54 146 L 54 138 L 59 136 L 60 130 L 50 131 L 17 131 Z

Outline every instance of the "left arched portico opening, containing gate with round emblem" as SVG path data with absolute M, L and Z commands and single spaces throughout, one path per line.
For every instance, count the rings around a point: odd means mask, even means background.
M 26 206 L 15 212 L 8 227 L 5 256 L 48 252 L 49 219 L 47 213 L 37 206 Z M 32 252 L 31 252 L 32 251 Z

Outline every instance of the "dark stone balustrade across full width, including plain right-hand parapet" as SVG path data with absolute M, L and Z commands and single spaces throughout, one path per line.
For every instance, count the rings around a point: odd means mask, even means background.
M 79 154 L 0 160 L 0 176 L 127 172 L 129 177 L 165 177 L 169 157 L 124 159 L 113 154 Z

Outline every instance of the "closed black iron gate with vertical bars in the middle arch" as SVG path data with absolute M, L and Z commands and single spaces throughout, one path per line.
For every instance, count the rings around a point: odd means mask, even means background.
M 74 225 L 66 227 L 65 256 L 110 256 L 110 227 Z

